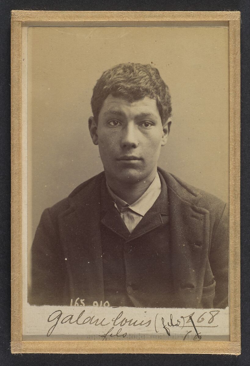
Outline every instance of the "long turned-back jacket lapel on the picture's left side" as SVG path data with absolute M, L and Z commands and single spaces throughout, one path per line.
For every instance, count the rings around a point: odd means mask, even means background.
M 103 300 L 100 239 L 100 184 L 103 175 L 70 197 L 70 208 L 59 216 L 60 239 L 70 281 L 70 299 L 85 305 Z M 69 303 L 70 303 L 69 299 Z

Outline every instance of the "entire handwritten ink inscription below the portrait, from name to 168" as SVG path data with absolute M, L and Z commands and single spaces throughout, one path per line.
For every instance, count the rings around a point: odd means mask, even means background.
M 180 334 L 183 335 L 183 340 L 202 339 L 202 328 L 216 328 L 218 324 L 214 322 L 216 315 L 220 313 L 220 310 L 196 310 L 191 314 L 183 314 L 176 318 L 174 314 L 166 312 L 165 314 L 154 314 L 147 317 L 147 311 L 144 311 L 144 318 L 130 318 L 126 317 L 125 311 L 119 311 L 117 309 L 117 315 L 106 315 L 106 317 L 97 317 L 92 314 L 92 309 L 84 309 L 80 313 L 66 314 L 62 310 L 58 309 L 53 311 L 47 319 L 50 328 L 47 332 L 47 337 L 51 336 L 54 330 L 60 325 L 77 325 L 82 327 L 84 334 L 88 331 L 87 327 L 96 327 L 97 334 L 102 340 L 119 338 L 125 339 L 129 333 L 133 333 L 133 329 L 139 328 L 140 333 L 147 332 L 152 333 L 164 333 L 168 337 L 171 337 L 174 329 L 183 330 Z

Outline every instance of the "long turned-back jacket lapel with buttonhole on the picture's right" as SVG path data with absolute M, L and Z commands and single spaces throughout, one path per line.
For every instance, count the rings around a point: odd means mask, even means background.
M 209 247 L 209 212 L 195 205 L 197 194 L 188 192 L 169 173 L 164 172 L 163 178 L 168 185 L 176 306 L 199 307 Z

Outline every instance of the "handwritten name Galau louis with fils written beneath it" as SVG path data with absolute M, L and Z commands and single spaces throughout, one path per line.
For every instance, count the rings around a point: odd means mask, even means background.
M 84 313 L 85 310 L 82 310 L 82 312 L 78 315 L 76 320 L 74 319 L 74 315 L 73 314 L 69 314 L 66 315 L 65 317 L 63 317 L 63 313 L 61 310 L 56 310 L 54 311 L 52 314 L 49 315 L 48 317 L 48 322 L 52 322 L 55 321 L 55 324 L 53 324 L 51 326 L 51 328 L 49 328 L 48 333 L 47 333 L 47 337 L 49 337 L 53 330 L 55 329 L 56 325 L 58 324 L 58 322 L 60 321 L 60 324 L 65 324 L 65 323 L 69 323 L 69 324 L 77 324 L 77 325 L 85 325 L 85 324 L 90 324 L 90 325 L 95 325 L 95 326 L 107 326 L 109 325 L 111 322 L 107 321 L 106 318 L 103 318 L 102 320 L 99 320 L 99 318 L 96 318 L 95 315 L 92 316 L 88 316 L 86 318 L 84 318 Z M 124 333 L 123 335 L 119 335 L 121 330 L 118 330 L 117 333 L 115 335 L 113 335 L 111 333 L 111 331 L 114 329 L 114 326 L 124 326 L 124 325 L 129 325 L 129 326 L 149 326 L 151 324 L 151 320 L 134 320 L 132 319 L 127 319 L 126 317 L 123 317 L 123 311 L 120 312 L 120 314 L 117 315 L 117 317 L 114 317 L 112 319 L 112 325 L 113 327 L 105 334 L 103 335 L 103 340 L 106 340 L 106 336 L 109 334 L 111 337 L 112 336 L 126 336 L 126 333 Z M 111 335 L 112 334 L 112 335 Z

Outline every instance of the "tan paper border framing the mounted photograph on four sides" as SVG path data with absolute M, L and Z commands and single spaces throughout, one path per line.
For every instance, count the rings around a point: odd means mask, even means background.
M 37 22 L 229 22 L 230 341 L 22 341 L 22 24 Z M 42 24 L 40 24 L 41 26 Z M 72 23 L 71 23 L 72 25 Z M 45 23 L 44 23 L 45 26 Z M 62 26 L 62 24 L 60 24 Z M 240 354 L 240 12 L 18 11 L 11 13 L 11 352 Z

